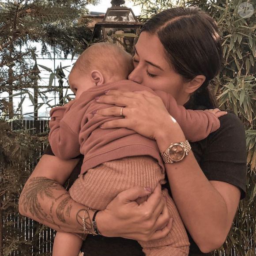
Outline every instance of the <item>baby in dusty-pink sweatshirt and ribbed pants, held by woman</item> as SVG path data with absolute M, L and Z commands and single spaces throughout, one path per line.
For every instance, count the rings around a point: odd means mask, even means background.
M 84 154 L 81 173 L 70 188 L 70 195 L 92 209 L 104 210 L 117 194 L 136 185 L 155 188 L 159 182 L 166 183 L 156 142 L 127 128 L 99 128 L 106 121 L 123 117 L 95 114 L 98 109 L 113 106 L 99 104 L 95 97 L 105 90 L 148 90 L 162 98 L 189 141 L 199 141 L 216 131 L 218 117 L 226 114 L 186 110 L 177 105 L 172 95 L 127 80 L 132 70 L 132 56 L 117 45 L 92 45 L 79 56 L 69 76 L 75 100 L 50 111 L 49 142 L 53 153 L 61 159 Z M 146 256 L 187 256 L 189 242 L 180 215 L 168 191 L 163 189 L 162 194 L 167 197 L 169 215 L 174 218 L 172 229 L 163 239 L 139 244 Z M 137 203 L 145 200 L 139 198 Z M 77 256 L 85 237 L 86 234 L 57 232 L 53 256 Z

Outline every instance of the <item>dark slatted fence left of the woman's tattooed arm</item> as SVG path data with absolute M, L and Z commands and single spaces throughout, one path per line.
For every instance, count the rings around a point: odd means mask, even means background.
M 19 130 L 19 129 L 30 129 L 31 133 L 33 134 L 40 134 L 46 132 L 47 130 L 47 121 L 45 120 L 21 120 L 21 121 L 13 121 L 11 123 L 12 130 Z M 40 143 L 40 142 L 37 142 Z M 26 179 L 30 176 L 33 172 L 35 166 L 37 165 L 38 158 L 43 154 L 45 150 L 45 143 L 41 143 L 40 147 L 35 145 L 35 152 L 33 155 L 33 159 L 29 160 L 30 163 L 28 164 L 29 168 L 25 170 L 24 173 L 24 183 Z M 0 169 L 2 172 L 2 169 Z M 24 184 L 22 184 L 24 185 Z M 17 198 L 14 199 L 14 203 L 18 205 L 19 195 Z M 2 216 L 2 223 L 3 223 L 3 237 L 4 239 L 13 239 L 15 241 L 15 245 L 19 244 L 19 241 L 23 243 L 22 246 L 17 246 L 17 249 L 13 249 L 12 252 L 9 254 L 10 256 L 17 256 L 17 255 L 51 255 L 52 251 L 52 243 L 55 235 L 55 231 L 44 227 L 38 222 L 30 218 L 23 217 L 19 215 L 19 213 L 10 214 L 10 211 L 4 211 Z M 13 223 L 13 225 L 10 225 Z M 6 238 L 7 237 L 7 238 Z M 17 242 L 18 241 L 18 242 Z M 5 245 L 4 241 L 4 245 Z M 26 248 L 27 242 L 27 248 Z M 10 241 L 8 241 L 10 244 Z M 15 247 L 14 245 L 14 247 Z M 26 248 L 21 250 L 20 247 Z M 26 251 L 26 252 L 25 252 Z M 29 253 L 28 253 L 29 252 Z M 31 252 L 31 254 L 30 254 Z

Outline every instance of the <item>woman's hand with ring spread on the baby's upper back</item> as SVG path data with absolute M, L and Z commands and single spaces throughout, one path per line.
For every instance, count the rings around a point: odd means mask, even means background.
M 105 94 L 96 101 L 117 106 L 100 109 L 97 114 L 118 117 L 120 107 L 125 106 L 125 118 L 105 122 L 101 126 L 102 129 L 129 128 L 147 138 L 157 140 L 160 133 L 167 132 L 167 129 L 171 131 L 172 126 L 178 125 L 168 113 L 162 99 L 149 91 L 109 90 Z

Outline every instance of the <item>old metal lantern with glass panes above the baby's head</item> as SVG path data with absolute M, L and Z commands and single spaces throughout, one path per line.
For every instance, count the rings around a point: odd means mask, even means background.
M 98 38 L 99 41 L 113 40 L 131 53 L 143 23 L 138 21 L 131 8 L 120 6 L 124 4 L 124 0 L 113 0 L 111 4 L 103 21 L 95 24 L 93 38 Z

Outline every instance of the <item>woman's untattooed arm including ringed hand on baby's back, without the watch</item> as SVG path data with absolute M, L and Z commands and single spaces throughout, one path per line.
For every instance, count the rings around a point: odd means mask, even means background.
M 106 122 L 101 128 L 132 129 L 155 139 L 160 152 L 171 143 L 185 141 L 179 124 L 169 115 L 161 98 L 147 91 L 109 90 L 106 94 L 97 102 L 126 106 L 125 118 Z M 118 116 L 120 107 L 101 109 L 98 114 Z M 211 252 L 219 248 L 237 210 L 239 189 L 226 182 L 208 181 L 192 151 L 182 162 L 166 164 L 166 173 L 181 218 L 200 250 Z

